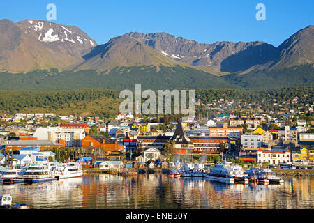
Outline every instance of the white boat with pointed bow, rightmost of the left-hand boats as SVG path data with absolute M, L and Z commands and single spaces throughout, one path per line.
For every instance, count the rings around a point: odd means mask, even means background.
M 79 165 L 69 162 L 54 169 L 54 176 L 58 179 L 81 177 L 83 176 L 83 171 Z

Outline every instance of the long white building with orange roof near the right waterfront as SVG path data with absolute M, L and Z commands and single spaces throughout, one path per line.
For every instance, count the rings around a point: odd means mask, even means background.
M 257 151 L 257 162 L 268 162 L 269 164 L 291 163 L 291 153 L 287 149 L 285 151 Z

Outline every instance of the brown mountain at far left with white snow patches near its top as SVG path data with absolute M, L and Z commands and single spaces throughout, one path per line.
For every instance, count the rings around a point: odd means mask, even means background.
M 0 71 L 61 70 L 83 61 L 97 44 L 76 26 L 53 22 L 0 20 Z

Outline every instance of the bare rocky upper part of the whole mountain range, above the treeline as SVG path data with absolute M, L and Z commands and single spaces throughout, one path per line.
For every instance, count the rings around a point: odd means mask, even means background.
M 261 41 L 206 44 L 168 33 L 136 32 L 98 46 L 76 26 L 0 20 L 0 72 L 179 65 L 221 74 L 286 68 L 314 63 L 313 34 L 314 26 L 308 26 L 277 48 Z

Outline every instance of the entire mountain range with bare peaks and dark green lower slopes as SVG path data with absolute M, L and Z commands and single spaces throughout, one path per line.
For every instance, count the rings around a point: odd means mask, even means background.
M 283 86 L 312 85 L 313 63 L 312 25 L 278 47 L 262 41 L 197 43 L 169 33 L 137 32 L 98 45 L 76 26 L 44 20 L 0 20 L 0 81 L 10 81 L 8 87 L 27 84 L 22 79 L 31 72 L 37 75 L 33 83 L 29 82 L 29 89 L 43 82 L 58 84 L 57 78 L 70 82 L 73 78 L 78 87 L 80 81 L 86 84 L 89 77 L 99 77 L 103 82 L 95 84 L 107 88 L 119 82 L 133 83 L 130 79 L 138 84 L 155 79 L 161 82 L 160 88 L 175 85 L 174 82 L 186 83 L 180 85 L 186 88 L 264 88 L 254 84 L 257 77 L 264 78 L 260 84 L 266 87 L 276 87 L 276 82 L 283 79 L 287 79 Z M 53 69 L 58 71 L 50 72 Z M 40 76 L 40 70 L 47 72 Z M 294 76 L 299 79 L 293 83 L 289 77 L 296 70 Z M 83 73 L 87 77 L 82 77 Z

